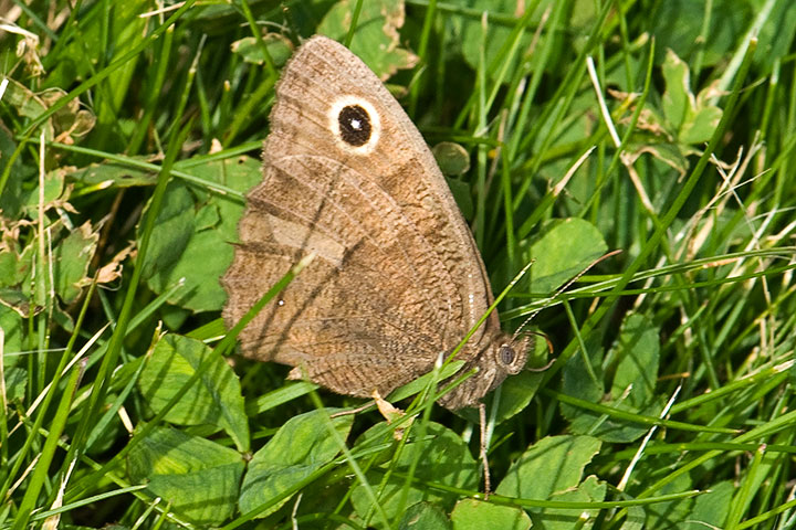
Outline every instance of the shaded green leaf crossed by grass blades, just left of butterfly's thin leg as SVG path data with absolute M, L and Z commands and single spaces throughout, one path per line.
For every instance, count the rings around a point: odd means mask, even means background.
M 443 425 L 430 422 L 426 425 L 425 437 L 422 441 L 418 441 L 418 426 L 415 425 L 411 428 L 411 439 L 398 455 L 398 458 L 395 462 L 378 466 L 377 470 L 370 470 L 366 474 L 368 483 L 376 489 L 376 485 L 381 484 L 387 468 L 392 469 L 394 474 L 387 479 L 384 489 L 378 492 L 379 504 L 390 520 L 404 513 L 408 506 L 420 500 L 433 502 L 444 510 L 451 509 L 458 500 L 459 496 L 457 494 L 430 489 L 425 487 L 422 483 L 432 481 L 454 488 L 473 490 L 478 488 L 478 464 L 461 436 Z M 356 447 L 363 447 L 371 443 L 384 444 L 391 441 L 391 435 L 380 433 L 384 433 L 384 426 L 374 426 L 357 441 Z M 406 496 L 404 496 L 406 479 L 402 476 L 396 476 L 395 473 L 401 475 L 409 473 L 409 468 L 418 456 L 419 460 L 412 475 L 416 481 L 409 485 L 406 489 Z M 371 501 L 364 486 L 359 485 L 354 488 L 352 504 L 359 517 L 367 517 L 371 509 Z M 371 520 L 370 524 L 381 528 L 381 522 L 378 519 Z

